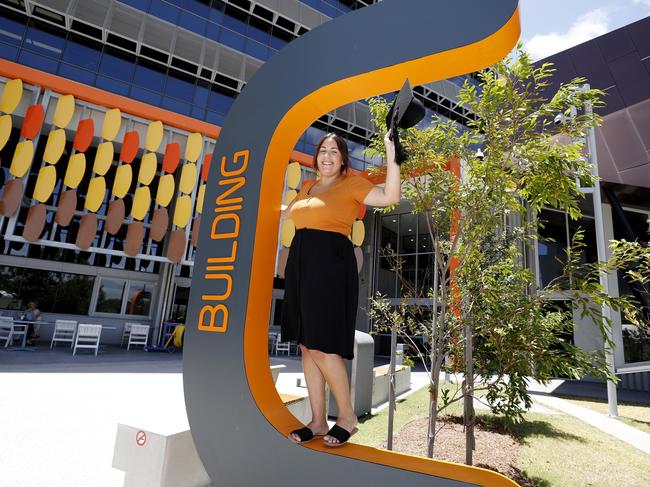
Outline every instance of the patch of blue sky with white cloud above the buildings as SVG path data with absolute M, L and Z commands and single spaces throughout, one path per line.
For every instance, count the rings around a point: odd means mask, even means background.
M 520 0 L 521 40 L 538 60 L 650 16 L 650 0 Z

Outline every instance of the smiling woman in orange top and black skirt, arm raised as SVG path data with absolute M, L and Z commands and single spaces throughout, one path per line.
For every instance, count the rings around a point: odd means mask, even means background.
M 305 181 L 282 212 L 283 218 L 294 221 L 296 235 L 285 271 L 281 335 L 284 341 L 300 344 L 312 410 L 309 424 L 289 434 L 296 443 L 323 438 L 326 446 L 337 447 L 357 431 L 343 362 L 353 358 L 359 292 L 354 249 L 348 236 L 362 203 L 384 207 L 400 200 L 400 168 L 389 137 L 390 132 L 384 138 L 386 184 L 379 187 L 359 176 L 348 176 L 347 144 L 339 135 L 325 135 L 314 154 L 320 179 Z M 339 413 L 329 431 L 326 383 Z

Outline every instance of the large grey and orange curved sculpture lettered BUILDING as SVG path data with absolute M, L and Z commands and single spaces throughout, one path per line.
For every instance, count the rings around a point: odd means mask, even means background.
M 384 0 L 304 34 L 233 104 L 212 157 L 184 351 L 190 428 L 215 487 L 512 486 L 479 468 L 361 445 L 296 445 L 269 372 L 286 164 L 314 120 L 355 100 L 483 69 L 519 37 L 517 0 Z

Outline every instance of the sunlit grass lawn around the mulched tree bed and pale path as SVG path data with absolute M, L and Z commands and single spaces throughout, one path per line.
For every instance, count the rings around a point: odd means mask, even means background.
M 427 400 L 425 388 L 398 402 L 395 433 L 412 419 L 427 415 Z M 580 404 L 588 407 L 583 401 Z M 647 427 L 647 408 L 629 407 L 621 408 L 621 414 Z M 454 407 L 453 413 L 459 414 L 460 407 Z M 386 441 L 387 415 L 383 410 L 364 419 L 354 442 L 378 446 Z M 517 467 L 540 487 L 650 486 L 650 455 L 572 416 L 527 414 L 513 433 L 521 444 Z

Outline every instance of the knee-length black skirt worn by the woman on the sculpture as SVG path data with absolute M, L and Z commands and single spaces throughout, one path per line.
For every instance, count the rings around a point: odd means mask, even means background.
M 282 340 L 352 359 L 358 299 L 352 242 L 337 232 L 297 230 L 285 270 Z

